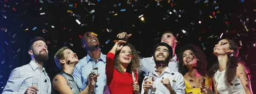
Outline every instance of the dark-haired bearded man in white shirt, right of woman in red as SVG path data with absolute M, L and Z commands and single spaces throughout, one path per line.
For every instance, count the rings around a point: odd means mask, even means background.
M 168 66 L 171 59 L 172 47 L 169 44 L 162 42 L 154 45 L 154 80 L 151 82 L 148 76 L 145 76 L 141 94 L 151 94 L 152 89 L 155 94 L 185 94 L 183 76 Z

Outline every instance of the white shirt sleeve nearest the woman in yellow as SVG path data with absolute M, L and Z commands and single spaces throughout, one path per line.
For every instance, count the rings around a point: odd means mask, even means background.
M 185 94 L 185 82 L 183 79 L 183 76 L 181 74 L 178 74 L 175 77 L 176 83 L 173 85 L 173 90 L 176 92 L 176 94 Z

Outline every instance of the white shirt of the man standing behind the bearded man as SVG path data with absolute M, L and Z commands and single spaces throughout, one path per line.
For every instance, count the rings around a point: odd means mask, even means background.
M 172 58 L 172 60 L 169 62 L 168 66 L 175 72 L 178 72 L 178 61 L 177 59 L 177 55 L 175 54 L 175 56 Z M 146 74 L 154 72 L 155 70 L 155 62 L 154 62 L 154 57 L 149 57 L 149 58 L 142 58 L 140 59 L 140 65 L 141 65 L 141 70 L 143 72 L 145 72 Z

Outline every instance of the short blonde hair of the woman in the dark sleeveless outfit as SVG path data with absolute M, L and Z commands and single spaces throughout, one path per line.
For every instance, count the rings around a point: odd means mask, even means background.
M 64 58 L 64 50 L 69 49 L 68 47 L 62 47 L 60 50 L 58 50 L 55 55 L 54 55 L 54 61 L 56 66 L 58 66 L 59 69 L 63 69 L 63 64 L 61 64 L 61 59 L 65 59 Z

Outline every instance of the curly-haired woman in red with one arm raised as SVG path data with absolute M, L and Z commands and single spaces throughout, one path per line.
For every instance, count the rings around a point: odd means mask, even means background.
M 111 94 L 140 94 L 138 77 L 134 82 L 132 72 L 140 71 L 140 58 L 134 46 L 125 41 L 116 42 L 106 59 L 107 85 Z

